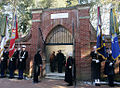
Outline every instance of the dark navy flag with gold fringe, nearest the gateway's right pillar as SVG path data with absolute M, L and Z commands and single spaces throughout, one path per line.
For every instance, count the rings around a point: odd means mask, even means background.
M 101 29 L 100 7 L 98 7 L 98 25 L 97 25 L 97 53 L 104 59 L 107 58 L 104 36 Z

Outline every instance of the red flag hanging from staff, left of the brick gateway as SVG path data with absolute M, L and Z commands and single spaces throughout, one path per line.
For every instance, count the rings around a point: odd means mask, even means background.
M 17 15 L 13 15 L 13 25 L 12 25 L 12 35 L 9 47 L 9 57 L 12 57 L 15 50 L 15 40 L 18 39 L 18 25 L 17 25 Z

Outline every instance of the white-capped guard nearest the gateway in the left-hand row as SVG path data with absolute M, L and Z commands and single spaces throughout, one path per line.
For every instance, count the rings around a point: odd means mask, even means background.
M 20 51 L 20 56 L 18 60 L 18 79 L 23 79 L 23 72 L 26 68 L 26 59 L 28 57 L 28 52 L 25 50 L 26 46 L 22 45 L 22 51 Z

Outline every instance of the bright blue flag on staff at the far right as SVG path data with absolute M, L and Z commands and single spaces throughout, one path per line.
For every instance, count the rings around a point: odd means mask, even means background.
M 116 60 L 119 56 L 119 43 L 117 37 L 117 31 L 119 30 L 117 27 L 117 19 L 115 10 L 110 10 L 110 34 L 111 34 L 111 49 L 112 49 L 112 58 Z

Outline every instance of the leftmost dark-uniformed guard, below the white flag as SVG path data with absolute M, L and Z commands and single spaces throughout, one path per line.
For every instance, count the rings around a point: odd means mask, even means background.
M 5 47 L 3 51 L 3 55 L 1 57 L 1 78 L 5 77 L 6 70 L 7 70 L 7 63 L 9 59 L 9 52 L 7 50 L 8 47 Z

